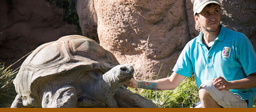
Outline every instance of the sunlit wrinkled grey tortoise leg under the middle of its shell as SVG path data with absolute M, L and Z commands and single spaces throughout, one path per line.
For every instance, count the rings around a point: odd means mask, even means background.
M 56 93 L 47 98 L 47 94 L 44 94 L 42 107 L 43 108 L 76 108 L 77 107 L 77 91 L 71 85 L 65 85 Z M 45 103 L 47 102 L 47 103 Z M 43 104 L 44 103 L 44 104 Z

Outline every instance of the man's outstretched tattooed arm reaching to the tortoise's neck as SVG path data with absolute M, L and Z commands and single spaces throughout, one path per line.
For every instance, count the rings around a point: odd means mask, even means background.
M 184 80 L 185 76 L 179 75 L 176 72 L 168 78 L 163 78 L 154 81 L 136 81 L 132 78 L 128 83 L 125 83 L 128 87 L 144 88 L 149 90 L 173 90 Z

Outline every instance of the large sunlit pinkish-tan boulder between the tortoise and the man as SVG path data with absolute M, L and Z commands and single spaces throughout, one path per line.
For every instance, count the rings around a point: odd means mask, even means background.
M 155 80 L 162 64 L 158 78 L 167 77 L 179 52 L 191 40 L 185 3 L 94 0 L 100 45 L 120 63 L 131 63 L 137 77 L 149 80 L 154 74 Z

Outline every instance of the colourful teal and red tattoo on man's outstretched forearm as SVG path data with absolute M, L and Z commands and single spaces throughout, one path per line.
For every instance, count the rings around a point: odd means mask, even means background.
M 152 81 L 139 81 L 138 88 L 144 88 L 148 90 L 161 90 L 158 88 L 158 84 Z

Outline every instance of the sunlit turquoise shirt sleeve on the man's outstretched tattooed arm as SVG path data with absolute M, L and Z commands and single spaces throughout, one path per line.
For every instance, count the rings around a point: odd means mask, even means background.
M 173 68 L 173 71 L 177 74 L 183 75 L 185 77 L 190 77 L 193 72 L 193 67 L 190 58 L 191 47 L 190 44 L 186 44 L 182 50 L 179 58 Z

